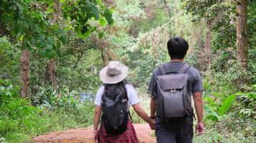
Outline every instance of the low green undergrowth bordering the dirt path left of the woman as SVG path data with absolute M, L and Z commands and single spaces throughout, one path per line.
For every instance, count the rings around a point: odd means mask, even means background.
M 0 81 L 0 137 L 6 142 L 28 142 L 37 134 L 92 124 L 93 104 L 79 102 L 78 94 L 52 94 L 50 103 L 33 107 L 18 91 Z

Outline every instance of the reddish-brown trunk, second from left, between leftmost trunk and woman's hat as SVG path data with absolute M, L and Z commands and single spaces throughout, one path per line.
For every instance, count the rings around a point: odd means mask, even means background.
M 46 65 L 46 82 L 51 84 L 53 89 L 57 89 L 57 72 L 56 72 L 57 58 L 50 59 Z

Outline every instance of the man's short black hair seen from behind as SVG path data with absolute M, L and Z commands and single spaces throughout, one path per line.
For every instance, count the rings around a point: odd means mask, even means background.
M 188 42 L 182 37 L 173 37 L 167 43 L 170 59 L 184 59 L 188 51 Z

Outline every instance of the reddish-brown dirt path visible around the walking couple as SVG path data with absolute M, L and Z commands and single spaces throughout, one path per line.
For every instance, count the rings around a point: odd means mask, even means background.
M 137 132 L 138 139 L 141 143 L 155 143 L 155 138 L 152 137 L 154 132 L 150 129 L 148 124 L 134 124 L 134 128 Z M 92 143 L 92 127 L 81 129 L 68 129 L 64 132 L 50 132 L 37 136 L 33 139 L 33 142 L 63 142 L 63 143 Z

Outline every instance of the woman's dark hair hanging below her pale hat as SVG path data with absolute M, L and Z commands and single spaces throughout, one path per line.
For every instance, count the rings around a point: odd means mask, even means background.
M 123 80 L 122 82 L 119 82 L 116 84 L 104 84 L 104 86 L 105 86 L 106 93 L 109 96 L 111 96 L 112 99 L 114 99 L 114 97 L 117 94 L 120 94 L 119 92 L 122 92 L 122 94 L 124 94 L 124 96 L 126 96 L 127 98 L 127 89 L 125 88 L 125 84 L 127 84 L 127 82 Z

